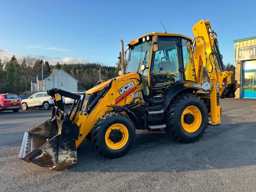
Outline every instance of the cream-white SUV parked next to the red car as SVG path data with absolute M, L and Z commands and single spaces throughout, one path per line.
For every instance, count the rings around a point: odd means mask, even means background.
M 63 104 L 65 104 L 64 97 L 62 98 Z M 28 110 L 28 108 L 35 107 L 37 109 L 44 108 L 50 109 L 54 106 L 54 101 L 51 96 L 47 94 L 47 92 L 38 92 L 31 95 L 28 99 L 23 99 L 21 101 L 22 109 Z

